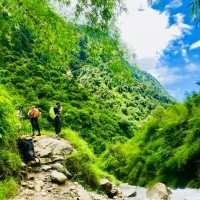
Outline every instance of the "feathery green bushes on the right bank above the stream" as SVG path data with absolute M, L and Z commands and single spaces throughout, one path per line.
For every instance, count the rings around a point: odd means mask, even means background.
M 102 155 L 104 169 L 131 184 L 199 188 L 199 113 L 199 93 L 184 104 L 158 107 L 134 138 Z

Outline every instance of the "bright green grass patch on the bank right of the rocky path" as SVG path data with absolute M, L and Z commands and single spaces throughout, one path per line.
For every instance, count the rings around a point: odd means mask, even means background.
M 68 140 L 76 149 L 66 162 L 67 169 L 74 174 L 73 179 L 92 189 L 100 189 L 98 187 L 102 178 L 118 183 L 114 176 L 104 172 L 98 166 L 97 158 L 88 147 L 88 144 L 81 139 L 79 133 L 65 129 L 61 136 Z

